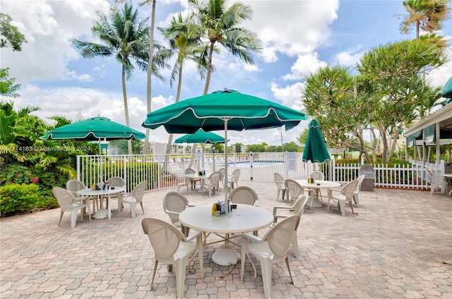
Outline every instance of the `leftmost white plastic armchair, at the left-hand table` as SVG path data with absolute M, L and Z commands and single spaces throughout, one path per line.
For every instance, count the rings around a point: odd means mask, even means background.
M 88 209 L 88 217 L 91 222 L 91 212 L 90 212 L 90 205 L 85 203 L 81 203 L 83 200 L 88 200 L 89 197 L 73 197 L 72 193 L 70 193 L 68 190 L 55 187 L 52 189 L 52 193 L 55 198 L 57 198 L 58 205 L 61 209 L 61 213 L 59 216 L 59 223 L 58 226 L 61 224 L 61 219 L 63 219 L 64 212 L 69 212 L 71 214 L 71 228 L 76 227 L 76 221 L 77 221 L 77 211 L 79 209 Z M 83 221 L 83 212 L 81 212 L 81 220 Z

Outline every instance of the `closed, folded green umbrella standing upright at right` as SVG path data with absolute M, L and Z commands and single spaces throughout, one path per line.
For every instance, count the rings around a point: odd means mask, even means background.
M 313 119 L 308 125 L 308 137 L 304 146 L 303 161 L 323 163 L 330 159 L 319 123 Z

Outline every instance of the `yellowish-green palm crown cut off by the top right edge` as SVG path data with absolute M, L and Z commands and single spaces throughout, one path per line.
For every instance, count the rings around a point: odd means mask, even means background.
M 408 33 L 414 25 L 416 28 L 416 38 L 420 38 L 420 29 L 427 32 L 434 32 L 442 28 L 441 22 L 448 18 L 447 4 L 450 0 L 406 0 L 403 6 L 408 11 L 408 15 L 400 24 L 400 31 Z

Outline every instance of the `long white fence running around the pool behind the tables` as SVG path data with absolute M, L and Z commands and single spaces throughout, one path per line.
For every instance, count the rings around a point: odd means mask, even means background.
M 324 164 L 302 161 L 301 152 L 264 152 L 228 154 L 228 173 L 240 169 L 241 180 L 273 182 L 273 173 L 281 173 L 285 178 L 307 178 L 314 169 L 322 171 L 329 181 L 345 183 L 357 178 L 360 164 L 336 164 L 334 160 Z M 100 166 L 102 164 L 102 167 Z M 130 191 L 141 181 L 148 181 L 148 188 L 160 189 L 175 185 L 184 176 L 187 168 L 207 173 L 218 171 L 225 166 L 224 154 L 185 155 L 108 155 L 78 156 L 77 179 L 92 185 L 112 176 L 126 180 Z M 425 181 L 424 167 L 433 173 L 444 171 L 444 162 L 436 164 L 394 165 L 375 164 L 374 186 L 388 188 L 429 188 Z

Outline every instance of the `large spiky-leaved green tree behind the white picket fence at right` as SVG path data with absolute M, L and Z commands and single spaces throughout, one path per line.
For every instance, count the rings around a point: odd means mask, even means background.
M 395 140 L 403 126 L 416 117 L 413 111 L 423 104 L 421 99 L 432 94 L 421 71 L 444 64 L 441 55 L 434 44 L 412 40 L 375 47 L 359 61 L 361 88 L 369 94 L 369 122 L 379 130 L 383 162 L 393 157 Z

